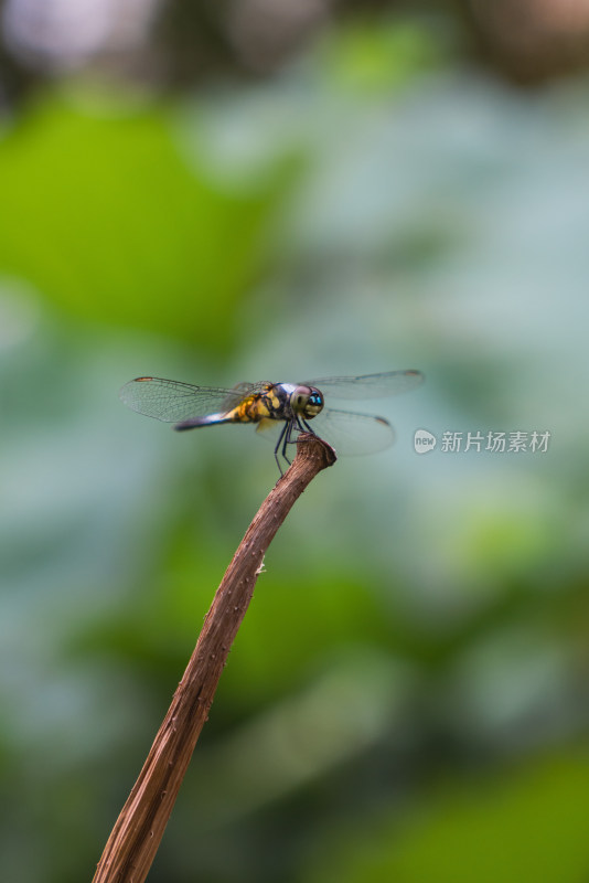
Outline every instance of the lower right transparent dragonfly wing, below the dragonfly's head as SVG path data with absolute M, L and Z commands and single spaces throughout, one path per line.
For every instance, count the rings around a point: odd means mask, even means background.
M 336 454 L 376 454 L 395 443 L 395 430 L 388 421 L 370 414 L 324 407 L 309 425 Z

